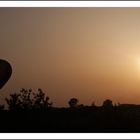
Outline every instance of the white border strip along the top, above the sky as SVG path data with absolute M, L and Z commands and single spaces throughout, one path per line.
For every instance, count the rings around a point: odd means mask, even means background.
M 140 1 L 0 1 L 0 7 L 140 7 Z

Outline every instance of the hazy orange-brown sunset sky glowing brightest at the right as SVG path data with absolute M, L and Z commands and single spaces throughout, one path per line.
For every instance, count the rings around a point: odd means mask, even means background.
M 140 8 L 0 8 L 0 102 L 42 88 L 54 106 L 140 104 Z

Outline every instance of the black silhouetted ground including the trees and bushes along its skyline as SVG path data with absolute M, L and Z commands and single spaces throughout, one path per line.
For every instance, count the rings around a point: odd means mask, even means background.
M 140 132 L 140 105 L 113 105 L 107 99 L 101 106 L 86 106 L 71 98 L 69 107 L 58 108 L 41 89 L 21 89 L 6 102 L 0 132 Z

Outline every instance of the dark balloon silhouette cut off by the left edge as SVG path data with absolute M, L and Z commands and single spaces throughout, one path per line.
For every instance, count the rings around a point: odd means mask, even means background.
M 0 89 L 6 84 L 12 74 L 11 65 L 5 61 L 0 59 Z

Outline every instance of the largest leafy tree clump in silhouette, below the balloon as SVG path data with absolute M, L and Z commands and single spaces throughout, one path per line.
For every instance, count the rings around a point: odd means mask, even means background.
M 33 92 L 32 89 L 22 88 L 20 93 L 10 95 L 6 98 L 9 110 L 43 110 L 52 106 L 49 97 L 41 90 Z

